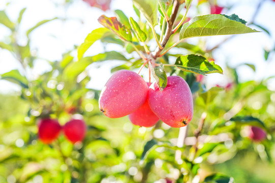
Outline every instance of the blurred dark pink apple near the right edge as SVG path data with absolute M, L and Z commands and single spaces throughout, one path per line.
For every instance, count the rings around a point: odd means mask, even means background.
M 261 142 L 266 138 L 266 132 L 256 126 L 246 126 L 245 133 L 247 137 L 255 142 Z

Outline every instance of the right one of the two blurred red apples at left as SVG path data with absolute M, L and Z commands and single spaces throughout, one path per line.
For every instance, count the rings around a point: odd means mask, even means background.
M 63 127 L 65 137 L 72 143 L 82 141 L 86 135 L 87 127 L 84 120 L 71 119 Z

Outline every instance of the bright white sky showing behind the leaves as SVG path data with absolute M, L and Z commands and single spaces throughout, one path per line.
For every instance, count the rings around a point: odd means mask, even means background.
M 50 66 L 45 62 L 48 60 L 61 60 L 62 54 L 73 48 L 74 45 L 80 45 L 86 36 L 95 28 L 101 27 L 97 18 L 105 14 L 106 16 L 114 16 L 112 11 L 103 12 L 100 9 L 89 7 L 81 0 L 75 0 L 71 5 L 64 5 L 65 0 L 1 0 L 0 10 L 5 9 L 11 20 L 15 21 L 22 8 L 27 8 L 22 18 L 22 23 L 19 31 L 18 40 L 21 45 L 26 44 L 26 38 L 24 33 L 26 30 L 34 26 L 37 22 L 50 19 L 53 17 L 66 17 L 68 20 L 54 20 L 46 23 L 37 28 L 31 34 L 31 49 L 37 50 L 37 55 L 40 58 L 35 62 L 35 70 L 32 77 L 38 74 L 50 70 Z M 217 1 L 221 6 L 229 7 L 232 4 L 238 2 L 238 6 L 230 9 L 230 11 L 224 11 L 227 15 L 235 13 L 240 18 L 250 21 L 252 14 L 258 4 L 258 1 L 251 0 L 232 0 L 232 1 Z M 123 2 L 123 3 L 122 3 Z M 194 0 L 196 4 L 197 1 Z M 6 6 L 10 3 L 9 6 Z M 65 7 L 65 8 L 64 8 Z M 130 0 L 113 0 L 111 9 L 120 9 L 129 16 L 134 16 L 132 9 L 132 3 Z M 202 14 L 208 14 L 209 10 L 205 7 L 201 9 Z M 189 12 L 189 16 L 193 16 L 195 12 L 192 9 Z M 214 51 L 213 57 L 217 64 L 225 68 L 227 62 L 230 66 L 237 66 L 241 63 L 250 63 L 256 66 L 256 73 L 254 73 L 249 67 L 242 66 L 237 71 L 241 81 L 246 80 L 261 80 L 269 76 L 274 76 L 275 68 L 275 55 L 270 55 L 268 62 L 264 60 L 263 48 L 272 49 L 275 44 L 275 3 L 271 0 L 266 0 L 256 17 L 256 23 L 269 30 L 272 38 L 268 37 L 265 33 L 253 33 L 236 36 L 230 41 L 226 42 L 220 48 Z M 253 27 L 259 29 L 257 27 Z M 260 30 L 261 31 L 261 30 Z M 0 41 L 5 40 L 5 37 L 10 34 L 8 28 L 0 24 Z M 225 36 L 216 36 L 203 38 L 207 39 L 207 45 L 209 48 L 215 46 L 217 43 L 223 41 Z M 190 40 L 190 41 L 196 41 Z M 117 50 L 123 52 L 120 48 L 116 48 L 113 45 L 107 47 L 108 50 Z M 95 43 L 85 55 L 95 55 L 102 52 L 101 43 Z M 76 56 L 76 52 L 73 53 Z M 88 84 L 89 88 L 101 89 L 104 83 L 111 76 L 111 68 L 116 66 L 117 61 L 108 63 L 94 63 L 89 67 L 89 74 L 91 76 L 91 82 Z M 98 66 L 101 66 L 98 68 Z M 0 74 L 8 72 L 13 69 L 19 69 L 21 71 L 18 61 L 7 50 L 0 48 Z M 146 71 L 144 71 L 146 72 Z M 145 79 L 147 79 L 145 77 Z M 275 80 L 271 82 L 270 88 L 275 90 Z M 226 74 L 209 74 L 207 76 L 208 85 L 214 85 L 216 83 L 223 85 L 228 82 Z M 0 80 L 0 93 L 10 92 L 11 90 L 19 90 L 15 84 L 11 84 L 8 81 Z

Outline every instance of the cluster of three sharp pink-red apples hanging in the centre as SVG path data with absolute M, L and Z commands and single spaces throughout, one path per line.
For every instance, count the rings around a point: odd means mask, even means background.
M 108 79 L 99 97 L 99 109 L 107 117 L 129 115 L 132 124 L 152 127 L 161 120 L 179 128 L 193 117 L 193 98 L 186 81 L 169 76 L 167 87 L 160 90 L 137 73 L 120 70 Z

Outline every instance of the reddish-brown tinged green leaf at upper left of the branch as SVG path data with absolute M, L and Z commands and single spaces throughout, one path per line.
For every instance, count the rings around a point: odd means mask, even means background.
M 98 22 L 101 23 L 106 28 L 113 31 L 117 36 L 125 41 L 132 41 L 131 31 L 128 27 L 121 24 L 116 17 L 106 17 L 105 15 L 101 15 L 98 18 Z

